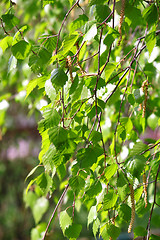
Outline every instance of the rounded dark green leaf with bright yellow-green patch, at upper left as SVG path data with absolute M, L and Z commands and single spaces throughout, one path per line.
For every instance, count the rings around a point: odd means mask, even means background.
M 21 40 L 12 46 L 12 53 L 17 59 L 25 59 L 31 51 L 31 44 Z

